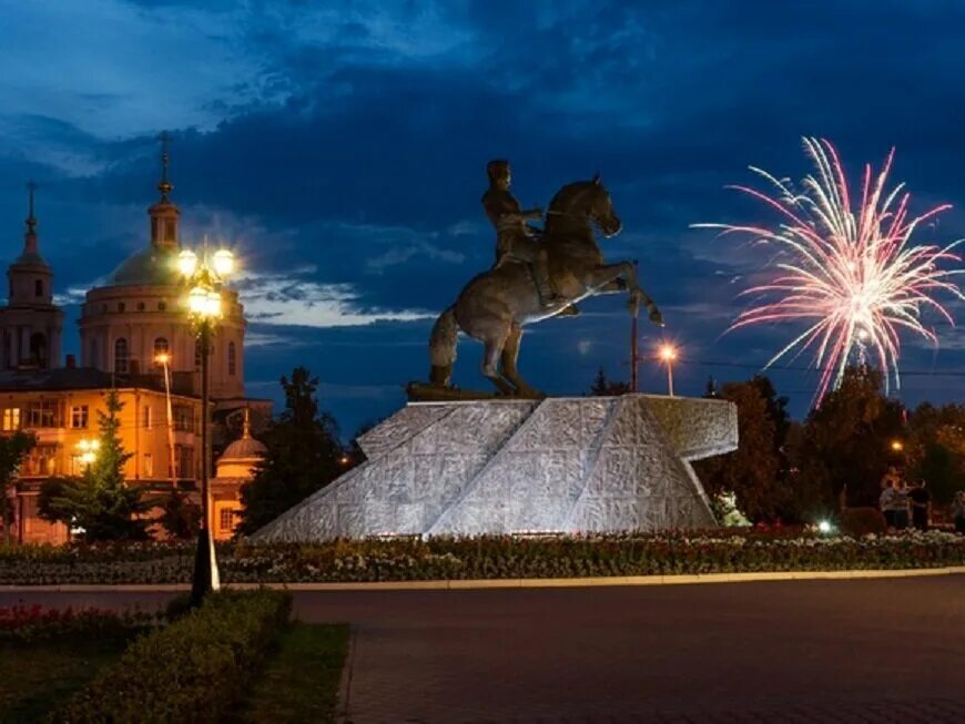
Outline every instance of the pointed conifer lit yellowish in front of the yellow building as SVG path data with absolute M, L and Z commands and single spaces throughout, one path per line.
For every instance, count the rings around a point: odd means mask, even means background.
M 132 453 L 124 451 L 118 436 L 123 405 L 115 390 L 108 394 L 106 409 L 98 411 L 99 447 L 93 462 L 80 478 L 47 481 L 38 501 L 40 516 L 79 530 L 88 543 L 145 540 L 151 521 L 144 513 L 150 503 L 139 488 L 124 480 L 124 463 Z

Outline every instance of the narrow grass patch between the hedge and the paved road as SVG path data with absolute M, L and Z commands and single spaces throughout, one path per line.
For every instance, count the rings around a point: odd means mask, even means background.
M 332 722 L 342 667 L 348 653 L 348 625 L 295 621 L 255 682 L 240 721 L 247 724 Z

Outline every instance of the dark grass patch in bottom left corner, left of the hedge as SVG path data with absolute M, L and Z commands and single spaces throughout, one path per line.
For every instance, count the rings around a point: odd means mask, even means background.
M 0 722 L 40 722 L 128 645 L 121 636 L 0 644 Z

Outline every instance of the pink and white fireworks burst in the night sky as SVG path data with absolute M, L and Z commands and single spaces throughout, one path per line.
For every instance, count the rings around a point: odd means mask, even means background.
M 814 350 L 821 370 L 816 400 L 836 387 L 850 361 L 876 364 L 901 387 L 898 356 L 903 329 L 937 345 L 935 333 L 922 324 L 922 312 L 932 308 L 949 324 L 949 312 L 935 300 L 946 292 L 965 299 L 952 281 L 962 269 L 941 268 L 961 263 L 948 246 L 913 245 L 911 236 L 923 222 L 951 208 L 944 204 L 910 217 L 904 184 L 885 190 L 894 149 L 881 171 L 864 169 L 861 197 L 852 207 L 852 195 L 834 146 L 827 141 L 804 139 L 816 174 L 802 182 L 795 193 L 788 181 L 751 166 L 774 188 L 772 195 L 746 186 L 730 186 L 780 212 L 775 228 L 731 224 L 695 224 L 720 228 L 722 234 L 746 233 L 755 243 L 775 245 L 779 251 L 773 278 L 746 289 L 756 295 L 754 306 L 741 314 L 729 330 L 754 324 L 806 322 L 803 334 L 782 348 L 766 367 L 789 354 Z M 868 359 L 870 357 L 870 359 Z

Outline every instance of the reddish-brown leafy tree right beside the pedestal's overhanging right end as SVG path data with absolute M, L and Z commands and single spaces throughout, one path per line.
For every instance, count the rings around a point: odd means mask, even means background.
M 768 400 L 756 380 L 728 383 L 720 396 L 738 407 L 738 449 L 699 460 L 694 468 L 711 498 L 732 493 L 737 508 L 750 520 L 772 519 L 778 513 L 780 458 L 774 447 L 775 425 L 768 414 Z

